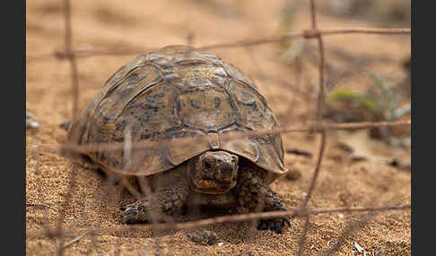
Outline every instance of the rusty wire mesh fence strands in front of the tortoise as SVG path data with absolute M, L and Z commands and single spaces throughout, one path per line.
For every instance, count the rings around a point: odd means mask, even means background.
M 226 48 L 226 47 L 251 47 L 251 46 L 257 46 L 262 44 L 268 44 L 268 43 L 274 43 L 284 40 L 289 40 L 291 38 L 317 38 L 318 40 L 318 50 L 320 55 L 320 61 L 319 61 L 319 90 L 318 90 L 318 101 L 317 101 L 317 109 L 316 109 L 316 122 L 310 123 L 308 125 L 302 125 L 301 127 L 295 127 L 292 126 L 283 126 L 281 129 L 274 129 L 274 130 L 268 130 L 268 131 L 257 131 L 257 132 L 237 132 L 234 134 L 222 136 L 222 140 L 232 140 L 237 139 L 241 137 L 246 137 L 250 135 L 262 135 L 262 134 L 268 134 L 268 133 L 275 133 L 275 132 L 319 132 L 321 135 L 321 144 L 319 146 L 319 153 L 318 153 L 318 160 L 317 164 L 315 166 L 314 175 L 310 180 L 310 187 L 307 192 L 307 196 L 302 201 L 301 207 L 299 208 L 289 208 L 288 211 L 271 211 L 271 212 L 253 212 L 249 214 L 241 214 L 241 215 L 234 215 L 234 216 L 223 216 L 218 218 L 206 218 L 201 219 L 197 221 L 191 221 L 191 222 L 185 222 L 185 223 L 155 223 L 153 221 L 152 224 L 149 225 L 132 225 L 132 226 L 122 226 L 120 228 L 117 228 L 117 231 L 121 230 L 127 230 L 127 229 L 190 229 L 190 228 L 197 228 L 199 226 L 208 226 L 212 224 L 218 224 L 223 222 L 238 222 L 238 221 L 248 221 L 248 220 L 255 220 L 259 218 L 278 218 L 278 217 L 284 217 L 287 215 L 292 215 L 299 218 L 304 218 L 304 228 L 302 231 L 301 239 L 299 241 L 300 247 L 298 255 L 301 255 L 304 244 L 306 243 L 307 234 L 310 226 L 310 216 L 315 214 L 323 214 L 323 213 L 332 213 L 332 212 L 371 212 L 367 216 L 367 218 L 363 218 L 362 220 L 351 223 L 347 228 L 344 230 L 344 234 L 341 235 L 338 238 L 338 243 L 336 243 L 335 247 L 332 248 L 332 250 L 327 251 L 325 254 L 330 255 L 333 252 L 337 252 L 342 243 L 344 243 L 344 240 L 349 235 L 352 235 L 355 230 L 358 228 L 361 228 L 366 223 L 368 223 L 371 218 L 374 216 L 372 212 L 375 211 L 385 211 L 385 210 L 404 210 L 404 209 L 410 209 L 410 205 L 404 205 L 404 206 L 386 206 L 386 207 L 380 207 L 380 208 L 338 208 L 338 209 L 308 209 L 307 205 L 310 201 L 311 194 L 315 188 L 315 184 L 318 178 L 318 173 L 320 170 L 320 166 L 323 159 L 324 150 L 326 147 L 326 139 L 327 139 L 327 131 L 329 130 L 350 130 L 350 129 L 367 129 L 371 127 L 382 127 L 382 126 L 393 126 L 393 125 L 410 125 L 411 121 L 395 121 L 395 122 L 379 122 L 379 123 L 349 123 L 349 124 L 323 124 L 322 123 L 322 109 L 324 107 L 324 98 L 325 98 L 325 79 L 324 79 L 324 71 L 325 71 L 325 57 L 324 57 L 324 46 L 323 46 L 323 40 L 321 37 L 329 36 L 329 35 L 339 35 L 339 34 L 351 34 L 351 33 L 363 33 L 363 34 L 388 34 L 388 35 L 395 35 L 395 34 L 410 34 L 410 29 L 376 29 L 376 28 L 346 28 L 346 29 L 322 29 L 319 30 L 317 26 L 317 20 L 316 20 L 316 10 L 315 10 L 315 3 L 313 0 L 310 0 L 310 15 L 311 15 L 311 29 L 310 30 L 302 30 L 299 32 L 293 32 L 288 33 L 282 36 L 273 36 L 273 37 L 266 37 L 266 38 L 256 38 L 256 39 L 245 39 L 245 40 L 239 40 L 235 42 L 230 43 L 222 43 L 222 44 L 214 44 L 209 45 L 205 47 L 199 47 L 199 49 L 202 50 L 209 50 L 209 49 L 217 49 L 217 48 Z M 152 48 L 147 49 L 113 49 L 113 50 L 102 50 L 102 51 L 96 51 L 96 50 L 74 50 L 72 47 L 72 29 L 71 29 L 71 5 L 69 0 L 65 0 L 65 52 L 56 52 L 54 54 L 48 54 L 48 55 L 34 55 L 34 56 L 28 56 L 26 61 L 30 63 L 31 61 L 43 61 L 43 60 L 49 60 L 53 58 L 57 59 L 67 59 L 70 62 L 71 65 L 71 79 L 72 79 L 72 94 L 73 94 L 73 118 L 75 118 L 78 114 L 78 98 L 79 98 L 79 85 L 78 85 L 78 70 L 77 70 L 77 64 L 76 64 L 76 58 L 77 57 L 87 57 L 87 56 L 98 56 L 98 55 L 135 55 L 139 53 L 144 53 L 153 50 Z M 192 40 L 188 39 L 188 42 L 192 42 Z M 301 91 L 301 94 L 304 94 L 304 92 Z M 205 140 L 205 138 L 189 138 L 189 139 L 182 139 L 177 141 L 178 145 L 185 145 L 189 143 L 193 143 L 196 141 L 202 141 Z M 127 140 L 129 141 L 129 140 Z M 130 141 L 129 141 L 130 142 Z M 163 143 L 173 143 L 173 141 L 165 141 Z M 39 145 L 36 148 L 31 148 L 31 150 L 41 150 L 45 152 L 62 152 L 62 153 L 75 153 L 75 152 L 91 152 L 94 150 L 108 150 L 110 145 L 111 150 L 118 150 L 123 149 L 125 145 L 123 143 L 101 143 L 101 144 L 88 144 L 88 145 L 61 145 L 61 146 L 54 146 L 54 145 Z M 162 142 L 155 142 L 155 141 L 145 141 L 145 142 L 139 142 L 139 143 L 129 143 L 126 145 L 126 148 L 128 150 L 133 149 L 147 149 L 150 147 L 156 147 L 156 146 L 162 146 Z M 73 170 L 71 171 L 70 175 L 70 184 L 67 188 L 67 192 L 65 195 L 64 202 L 62 204 L 62 209 L 60 211 L 61 215 L 57 219 L 57 229 L 51 229 L 48 228 L 46 232 L 44 233 L 44 237 L 59 237 L 60 239 L 60 246 L 58 248 L 58 254 L 62 255 L 65 248 L 68 246 L 71 246 L 74 243 L 77 243 L 80 241 L 85 235 L 89 234 L 95 234 L 96 232 L 110 232 L 111 230 L 102 230 L 101 228 L 95 228 L 95 229 L 88 229 L 83 233 L 83 235 L 80 235 L 73 240 L 71 240 L 68 243 L 63 244 L 63 239 L 65 238 L 65 235 L 71 235 L 71 230 L 65 230 L 62 229 L 62 223 L 65 219 L 65 212 L 67 209 L 68 204 L 71 201 L 71 197 L 74 192 L 74 185 L 75 185 L 75 174 L 77 171 L 77 167 L 73 165 Z M 149 190 L 150 188 L 147 186 L 144 188 L 144 190 Z M 147 191 L 149 194 L 151 194 L 150 191 Z M 26 206 L 40 206 L 47 209 L 53 209 L 57 212 L 59 212 L 57 209 L 54 209 L 46 204 L 42 203 L 26 203 Z M 36 236 L 36 235 L 33 235 Z M 28 238 L 31 238 L 32 234 L 28 235 Z

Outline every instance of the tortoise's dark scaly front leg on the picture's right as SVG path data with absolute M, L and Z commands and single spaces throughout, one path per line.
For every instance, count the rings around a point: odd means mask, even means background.
M 275 192 L 264 182 L 263 170 L 255 166 L 242 168 L 239 174 L 236 194 L 240 208 L 246 211 L 275 211 L 287 210 Z M 284 225 L 291 226 L 289 217 L 260 219 L 257 224 L 259 230 L 271 230 L 282 234 Z

